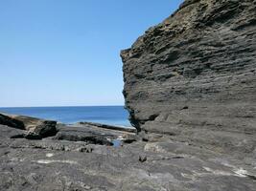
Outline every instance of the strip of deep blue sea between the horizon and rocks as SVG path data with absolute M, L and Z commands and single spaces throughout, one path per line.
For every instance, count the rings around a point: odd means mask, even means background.
M 124 109 L 124 106 L 0 108 L 1 112 L 52 119 L 68 124 L 89 121 L 109 125 L 131 126 L 128 121 L 128 111 Z

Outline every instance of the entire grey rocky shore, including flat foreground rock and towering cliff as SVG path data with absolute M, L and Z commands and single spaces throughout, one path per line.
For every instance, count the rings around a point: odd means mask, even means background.
M 134 129 L 0 115 L 0 190 L 255 191 L 256 1 L 185 0 L 128 50 Z

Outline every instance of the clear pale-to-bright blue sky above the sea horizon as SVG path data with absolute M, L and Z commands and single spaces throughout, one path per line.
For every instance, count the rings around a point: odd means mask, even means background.
M 0 107 L 123 105 L 120 50 L 181 2 L 0 1 Z

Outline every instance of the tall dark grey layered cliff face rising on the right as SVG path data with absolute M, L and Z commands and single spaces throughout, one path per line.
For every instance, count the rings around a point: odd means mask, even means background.
M 186 0 L 121 56 L 139 131 L 255 145 L 255 0 Z

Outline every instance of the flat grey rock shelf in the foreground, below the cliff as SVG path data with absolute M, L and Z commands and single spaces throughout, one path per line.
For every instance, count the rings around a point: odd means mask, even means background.
M 255 190 L 255 160 L 189 140 L 97 123 L 4 115 L 0 121 L 11 125 L 0 125 L 0 190 Z M 56 134 L 41 137 L 38 126 Z

